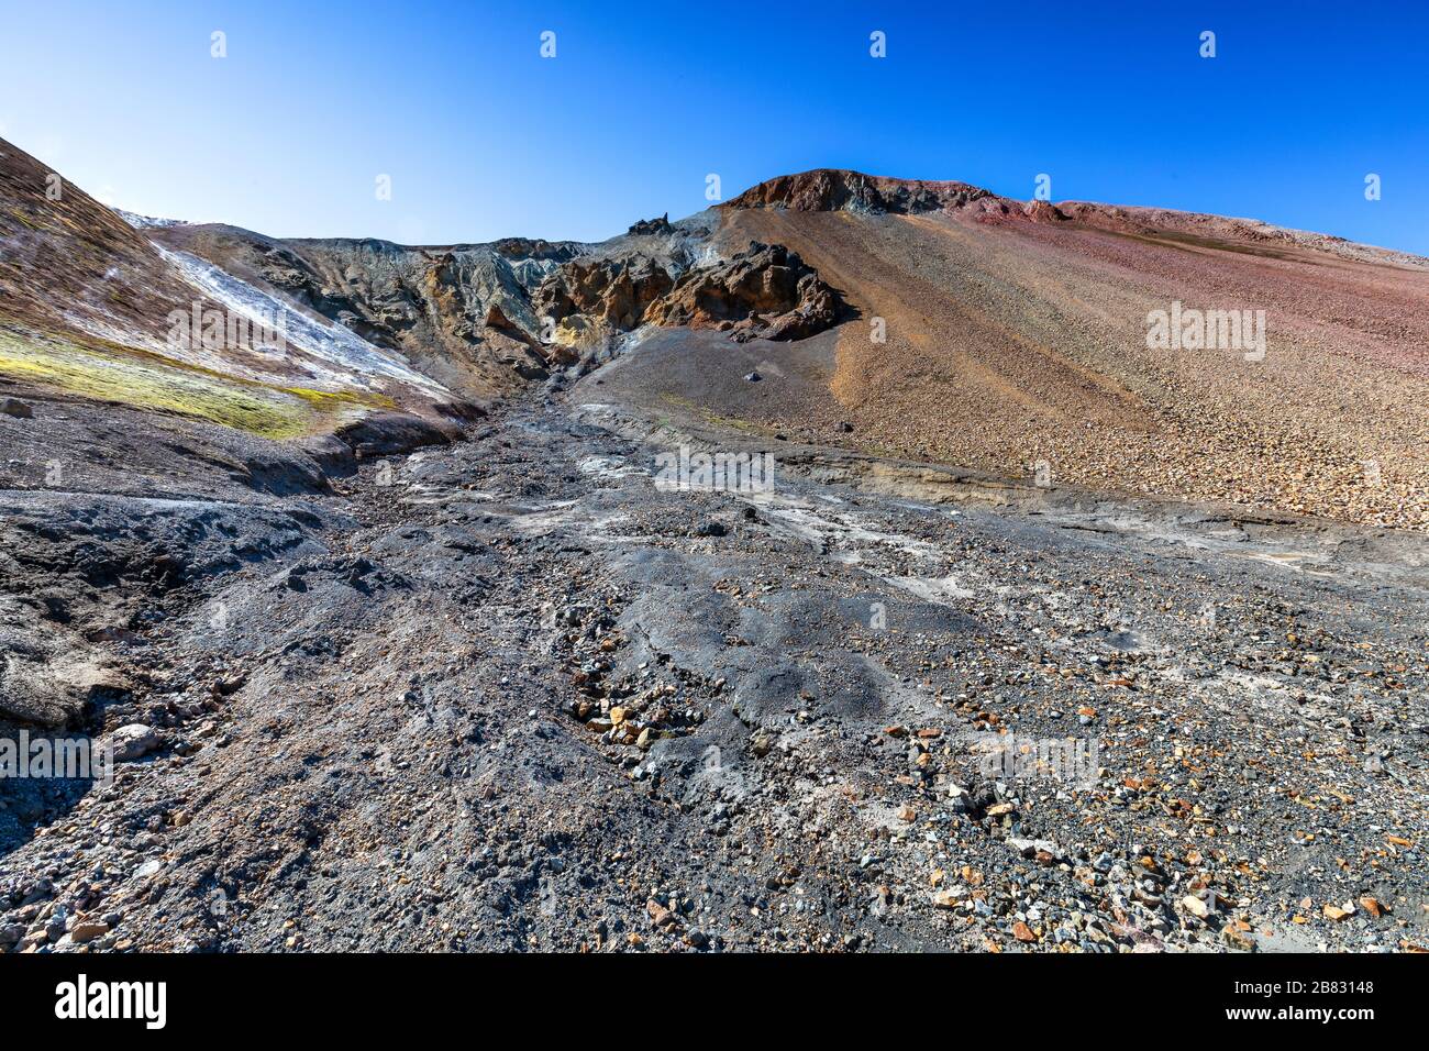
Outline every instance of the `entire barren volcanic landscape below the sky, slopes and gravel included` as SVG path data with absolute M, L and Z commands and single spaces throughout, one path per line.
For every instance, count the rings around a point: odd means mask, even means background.
M 1426 303 L 956 182 L 404 246 L 0 144 L 0 952 L 1420 951 Z

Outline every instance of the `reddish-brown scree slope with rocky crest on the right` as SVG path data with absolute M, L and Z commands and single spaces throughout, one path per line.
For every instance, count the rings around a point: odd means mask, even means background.
M 830 380 L 860 440 L 1429 526 L 1425 260 L 1248 220 L 949 186 L 962 187 L 816 172 L 722 209 L 729 243 L 789 245 L 865 315 L 845 326 Z M 1265 360 L 1149 349 L 1147 313 L 1173 300 L 1265 310 Z M 873 317 L 886 343 L 872 342 Z

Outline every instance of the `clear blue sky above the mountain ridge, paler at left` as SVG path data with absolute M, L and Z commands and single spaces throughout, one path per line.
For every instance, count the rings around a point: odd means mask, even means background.
M 596 240 L 697 212 L 712 172 L 729 197 L 853 167 L 1429 255 L 1429 4 L 997 9 L 0 0 L 0 136 L 119 206 L 277 236 Z

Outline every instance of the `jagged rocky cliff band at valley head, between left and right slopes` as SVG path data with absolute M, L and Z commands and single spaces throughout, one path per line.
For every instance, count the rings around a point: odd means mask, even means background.
M 710 262 L 709 232 L 684 230 L 669 216 L 637 222 L 604 245 L 510 237 L 407 247 L 277 240 L 211 224 L 149 233 L 400 350 L 470 395 L 509 392 L 647 323 L 787 340 L 843 316 L 837 293 L 797 255 L 755 245 Z

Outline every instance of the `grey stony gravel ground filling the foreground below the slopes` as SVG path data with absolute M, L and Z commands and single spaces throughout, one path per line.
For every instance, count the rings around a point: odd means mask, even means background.
M 0 785 L 0 951 L 1429 944 L 1422 539 L 790 442 L 660 490 L 765 439 L 602 379 L 0 493 L 7 666 L 131 744 Z

